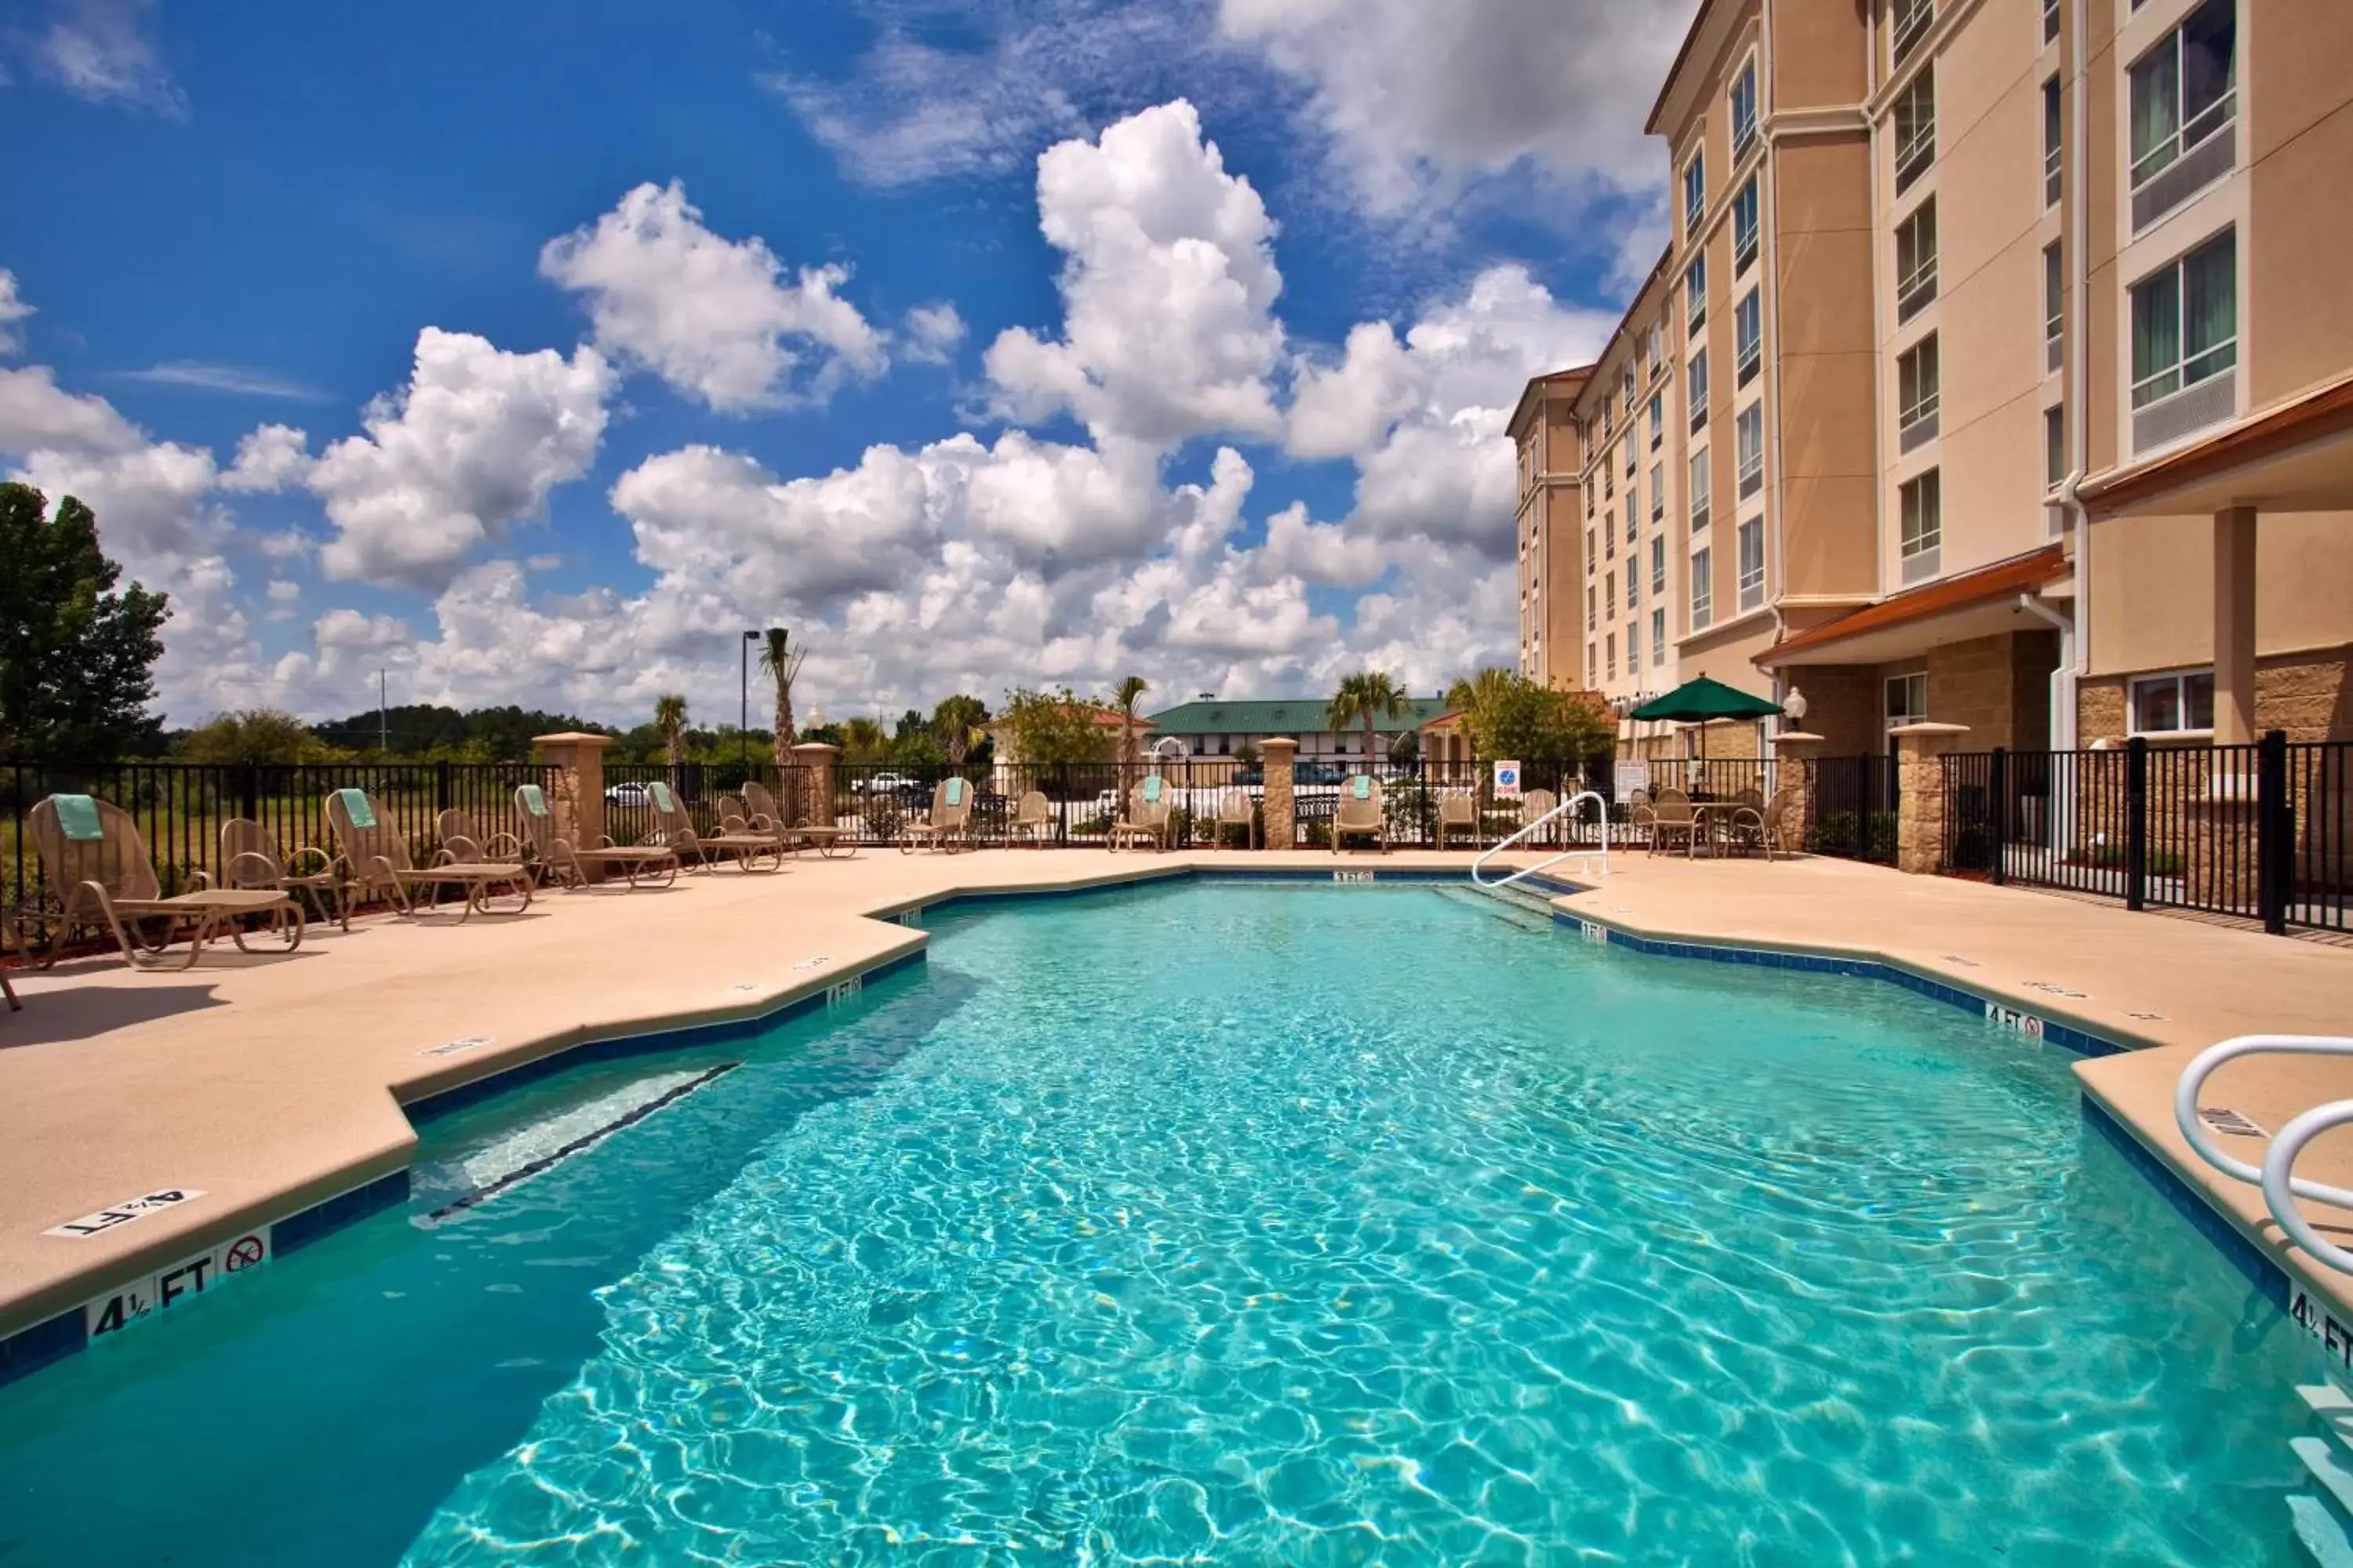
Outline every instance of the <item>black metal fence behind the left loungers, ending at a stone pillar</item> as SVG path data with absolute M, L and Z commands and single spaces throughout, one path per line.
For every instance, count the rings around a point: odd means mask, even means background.
M 195 886 L 195 872 L 224 879 L 221 825 L 249 818 L 287 853 L 311 844 L 334 853 L 327 792 L 360 788 L 376 797 L 424 863 L 440 846 L 435 818 L 461 809 L 482 832 L 515 832 L 515 785 L 546 783 L 525 762 L 0 762 L 0 907 L 38 912 L 49 893 L 26 816 L 47 795 L 96 795 L 139 825 L 165 893 Z M 14 922 L 0 922 L 0 931 Z

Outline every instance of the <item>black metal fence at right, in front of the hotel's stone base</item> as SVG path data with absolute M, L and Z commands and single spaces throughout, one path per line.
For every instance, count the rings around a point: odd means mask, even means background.
M 2353 743 L 1953 752 L 1948 875 L 2346 931 Z

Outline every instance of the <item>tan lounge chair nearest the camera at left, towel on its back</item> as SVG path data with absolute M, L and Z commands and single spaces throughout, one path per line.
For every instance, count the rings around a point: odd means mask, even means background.
M 278 889 L 216 889 L 212 877 L 195 872 L 195 891 L 165 898 L 139 825 L 113 802 L 47 795 L 26 816 L 26 827 L 59 903 L 42 969 L 56 964 L 78 926 L 106 926 L 132 969 L 165 969 L 162 950 L 181 926 L 188 929 L 188 954 L 172 969 L 191 969 L 205 943 L 224 933 L 238 952 L 252 952 L 240 922 L 264 914 L 289 952 L 301 947 L 301 905 Z M 162 936 L 151 940 L 139 931 L 144 919 L 160 919 Z

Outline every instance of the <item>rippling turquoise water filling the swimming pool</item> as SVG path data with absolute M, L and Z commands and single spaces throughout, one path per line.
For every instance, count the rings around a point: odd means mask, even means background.
M 0 1389 L 0 1566 L 2297 1561 L 2308 1347 L 2054 1046 L 1428 886 L 932 924 Z

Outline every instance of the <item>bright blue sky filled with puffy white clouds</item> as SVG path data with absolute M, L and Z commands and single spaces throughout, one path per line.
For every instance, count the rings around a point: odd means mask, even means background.
M 722 717 L 772 623 L 833 717 L 1435 689 L 1687 12 L 31 0 L 0 465 L 174 595 L 174 722 Z

